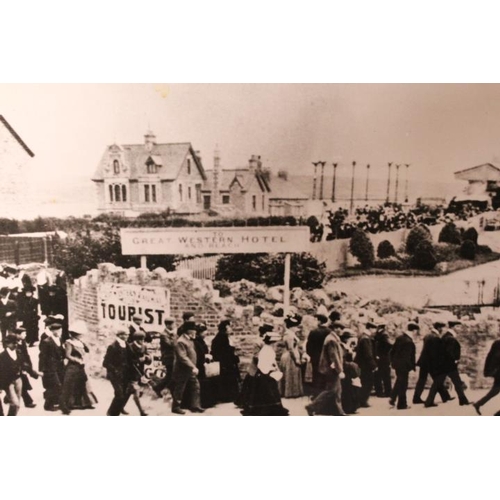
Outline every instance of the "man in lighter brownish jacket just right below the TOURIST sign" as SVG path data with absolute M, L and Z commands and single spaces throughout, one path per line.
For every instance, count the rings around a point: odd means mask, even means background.
M 184 392 L 189 393 L 190 410 L 195 413 L 203 413 L 200 403 L 200 383 L 198 381 L 199 370 L 196 367 L 197 357 L 194 347 L 196 337 L 196 323 L 187 321 L 183 325 L 182 334 L 175 345 L 175 365 L 173 374 L 174 391 L 172 394 L 172 413 L 183 415 L 185 411 L 181 408 Z

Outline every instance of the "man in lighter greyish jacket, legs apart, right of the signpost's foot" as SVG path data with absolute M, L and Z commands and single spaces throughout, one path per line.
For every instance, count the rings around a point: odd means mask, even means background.
M 306 406 L 308 415 L 344 416 L 342 408 L 342 385 L 345 378 L 342 342 L 339 335 L 344 330 L 340 321 L 332 324 L 332 330 L 325 338 L 319 360 L 319 371 L 325 375 L 325 390 Z

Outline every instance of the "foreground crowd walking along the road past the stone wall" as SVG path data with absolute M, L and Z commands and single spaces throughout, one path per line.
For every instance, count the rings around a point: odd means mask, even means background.
M 9 406 L 7 415 L 18 414 L 21 404 L 36 406 L 30 395 L 30 379 L 41 377 L 44 388 L 44 410 L 69 415 L 75 409 L 92 409 L 98 403 L 88 373 L 89 346 L 86 323 L 78 320 L 68 325 L 62 313 L 67 304 L 54 300 L 64 290 L 57 285 L 38 285 L 38 296 L 49 303 L 42 306 L 33 296 L 35 287 L 27 278 L 17 291 L 0 290 L 0 324 L 4 350 L 0 353 L 0 400 Z M 25 302 L 31 304 L 29 313 Z M 19 304 L 23 304 L 20 306 Z M 59 304 L 54 308 L 54 304 Z M 1 309 L 1 308 L 4 309 Z M 37 324 L 41 311 L 44 329 L 40 337 Z M 5 312 L 4 312 L 5 311 Z M 11 314 L 8 314 L 11 313 Z M 391 407 L 407 409 L 409 375 L 418 370 L 413 404 L 437 406 L 436 396 L 446 403 L 454 399 L 453 384 L 460 405 L 469 405 L 464 383 L 458 371 L 461 346 L 456 329 L 459 321 L 435 321 L 423 339 L 416 356 L 415 337 L 418 320 L 408 322 L 405 331 L 391 340 L 382 320 L 366 321 L 361 334 L 342 322 L 338 311 L 328 312 L 320 306 L 314 316 L 315 325 L 304 335 L 303 318 L 292 311 L 279 320 L 261 317 L 251 359 L 244 365 L 233 345 L 230 319 L 219 322 L 217 333 L 207 341 L 207 325 L 192 312 L 183 314 L 182 323 L 164 319 L 162 332 L 144 328 L 144 317 L 134 314 L 127 328 L 118 328 L 114 341 L 107 347 L 102 365 L 106 369 L 114 396 L 107 415 L 127 414 L 130 399 L 140 415 L 146 416 L 143 396 L 156 393 L 171 397 L 171 411 L 184 415 L 203 413 L 219 403 L 234 403 L 244 416 L 289 414 L 282 399 L 310 399 L 309 415 L 344 416 L 356 414 L 370 406 L 370 398 L 388 398 Z M 37 321 L 35 321 L 35 319 Z M 151 343 L 159 339 L 161 377 L 151 376 Z M 29 346 L 39 347 L 38 369 L 30 357 Z M 491 390 L 473 407 L 478 414 L 491 398 L 500 394 L 500 341 L 491 347 L 486 359 L 485 375 L 494 378 Z M 428 378 L 430 389 L 423 393 Z M 394 383 L 393 383 L 394 380 Z M 449 381 L 449 382 L 448 382 Z M 165 398 L 168 400 L 168 397 Z M 3 404 L 2 404 L 3 401 Z M 500 415 L 500 412 L 497 413 Z

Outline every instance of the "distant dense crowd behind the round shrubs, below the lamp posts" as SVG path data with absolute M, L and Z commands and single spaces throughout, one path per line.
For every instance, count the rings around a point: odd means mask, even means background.
M 483 205 L 451 202 L 448 207 L 417 205 L 411 208 L 395 203 L 356 208 L 353 215 L 344 208 L 327 213 L 326 240 L 350 238 L 356 229 L 368 233 L 410 229 L 418 224 L 428 226 L 454 220 L 467 220 L 486 210 Z M 325 228 L 318 224 L 312 228 L 312 241 L 321 241 Z

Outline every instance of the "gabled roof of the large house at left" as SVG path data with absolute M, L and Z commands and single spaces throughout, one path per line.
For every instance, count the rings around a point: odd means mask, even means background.
M 106 148 L 92 177 L 93 180 L 101 180 L 104 177 L 105 169 L 110 168 L 110 155 L 113 149 L 116 149 L 116 145 Z M 148 151 L 144 144 L 123 144 L 120 146 L 120 149 L 123 165 L 129 170 L 127 177 L 130 179 L 148 176 L 146 163 L 151 158 L 156 165 L 161 165 L 158 169 L 160 180 L 173 181 L 179 175 L 179 171 L 188 153 L 194 158 L 201 177 L 206 179 L 203 165 L 189 142 L 155 144 L 151 151 Z

